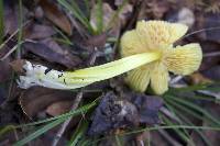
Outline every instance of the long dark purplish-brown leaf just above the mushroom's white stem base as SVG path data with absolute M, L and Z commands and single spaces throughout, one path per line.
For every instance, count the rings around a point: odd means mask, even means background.
M 70 49 L 62 48 L 55 41 L 47 38 L 41 43 L 26 42 L 22 45 L 25 50 L 43 57 L 51 63 L 58 63 L 67 68 L 75 68 L 81 59 Z

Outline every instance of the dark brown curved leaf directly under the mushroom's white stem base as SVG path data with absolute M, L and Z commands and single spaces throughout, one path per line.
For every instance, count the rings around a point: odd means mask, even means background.
M 73 100 L 75 93 L 72 91 L 54 90 L 43 87 L 32 87 L 23 92 L 19 102 L 23 112 L 29 117 L 34 117 L 38 112 L 46 110 L 46 108 L 54 102 Z

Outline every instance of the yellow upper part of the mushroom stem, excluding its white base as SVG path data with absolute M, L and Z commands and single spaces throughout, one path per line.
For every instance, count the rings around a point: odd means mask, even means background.
M 109 79 L 118 75 L 124 74 L 160 58 L 160 53 L 136 54 L 105 65 L 79 69 L 76 71 L 66 71 L 64 72 L 63 78 L 67 79 L 67 85 L 82 82 L 92 83 L 95 81 Z

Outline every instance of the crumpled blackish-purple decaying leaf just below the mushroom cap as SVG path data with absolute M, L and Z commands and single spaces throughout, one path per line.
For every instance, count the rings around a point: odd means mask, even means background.
M 103 134 L 116 128 L 134 127 L 140 123 L 158 123 L 157 113 L 162 106 L 162 100 L 144 94 L 131 94 L 131 99 L 127 96 L 120 99 L 113 92 L 103 96 L 95 111 L 88 134 Z

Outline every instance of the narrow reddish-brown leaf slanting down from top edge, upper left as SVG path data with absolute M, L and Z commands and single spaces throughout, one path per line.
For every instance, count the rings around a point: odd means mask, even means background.
M 44 10 L 45 16 L 65 33 L 72 35 L 72 25 L 67 16 L 58 9 L 54 1 L 40 0 L 40 5 Z

